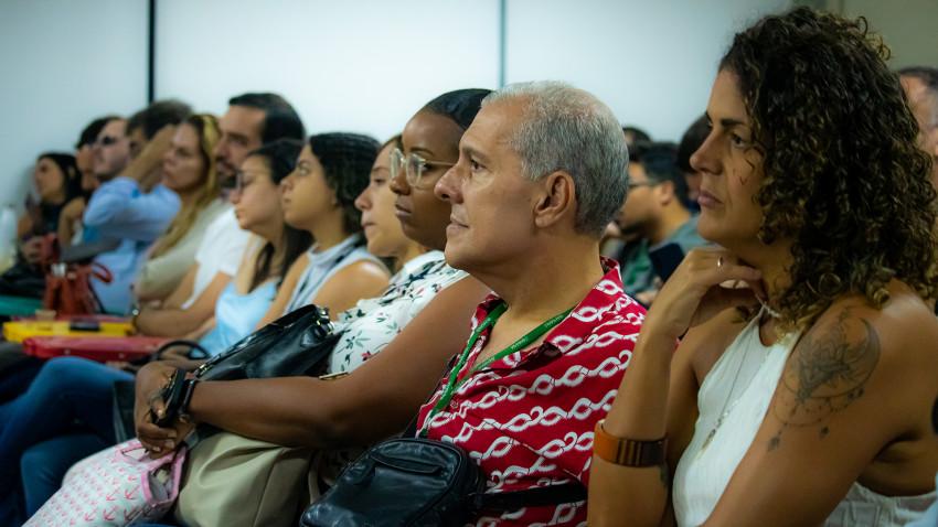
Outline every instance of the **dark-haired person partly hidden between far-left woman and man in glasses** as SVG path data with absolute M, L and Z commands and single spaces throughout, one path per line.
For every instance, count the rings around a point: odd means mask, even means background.
M 97 233 L 94 229 L 85 229 L 82 215 L 85 214 L 85 206 L 92 194 L 100 185 L 100 181 L 95 176 L 95 140 L 102 128 L 111 119 L 114 117 L 100 117 L 93 120 L 82 130 L 78 142 L 75 144 L 75 165 L 81 174 L 82 192 L 66 203 L 58 215 L 58 245 L 62 247 L 97 240 Z

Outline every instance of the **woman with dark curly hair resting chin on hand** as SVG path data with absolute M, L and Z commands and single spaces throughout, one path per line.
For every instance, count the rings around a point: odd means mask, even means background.
M 936 194 L 886 54 L 807 8 L 736 35 L 692 158 L 721 248 L 648 313 L 590 525 L 894 526 L 935 501 Z

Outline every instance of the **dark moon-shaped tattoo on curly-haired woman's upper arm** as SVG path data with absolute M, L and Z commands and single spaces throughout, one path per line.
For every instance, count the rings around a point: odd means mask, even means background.
M 841 312 L 838 320 L 810 331 L 792 352 L 772 406 L 781 422 L 769 450 L 788 427 L 818 426 L 818 438 L 830 433 L 830 418 L 863 396 L 880 362 L 880 335 L 864 319 Z

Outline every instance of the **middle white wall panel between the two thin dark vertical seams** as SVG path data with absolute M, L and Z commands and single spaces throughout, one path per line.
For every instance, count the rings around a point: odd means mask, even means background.
M 233 95 L 277 92 L 310 132 L 384 140 L 439 94 L 494 87 L 498 8 L 498 0 L 161 0 L 157 97 L 221 114 Z

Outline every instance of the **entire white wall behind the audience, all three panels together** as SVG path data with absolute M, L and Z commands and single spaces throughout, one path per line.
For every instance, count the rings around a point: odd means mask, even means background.
M 675 140 L 734 31 L 789 0 L 508 0 L 507 80 L 558 78 Z M 384 139 L 430 98 L 497 87 L 499 0 L 159 0 L 156 95 L 221 114 L 279 92 L 310 132 Z M 0 203 L 35 155 L 145 105 L 146 0 L 0 0 Z

